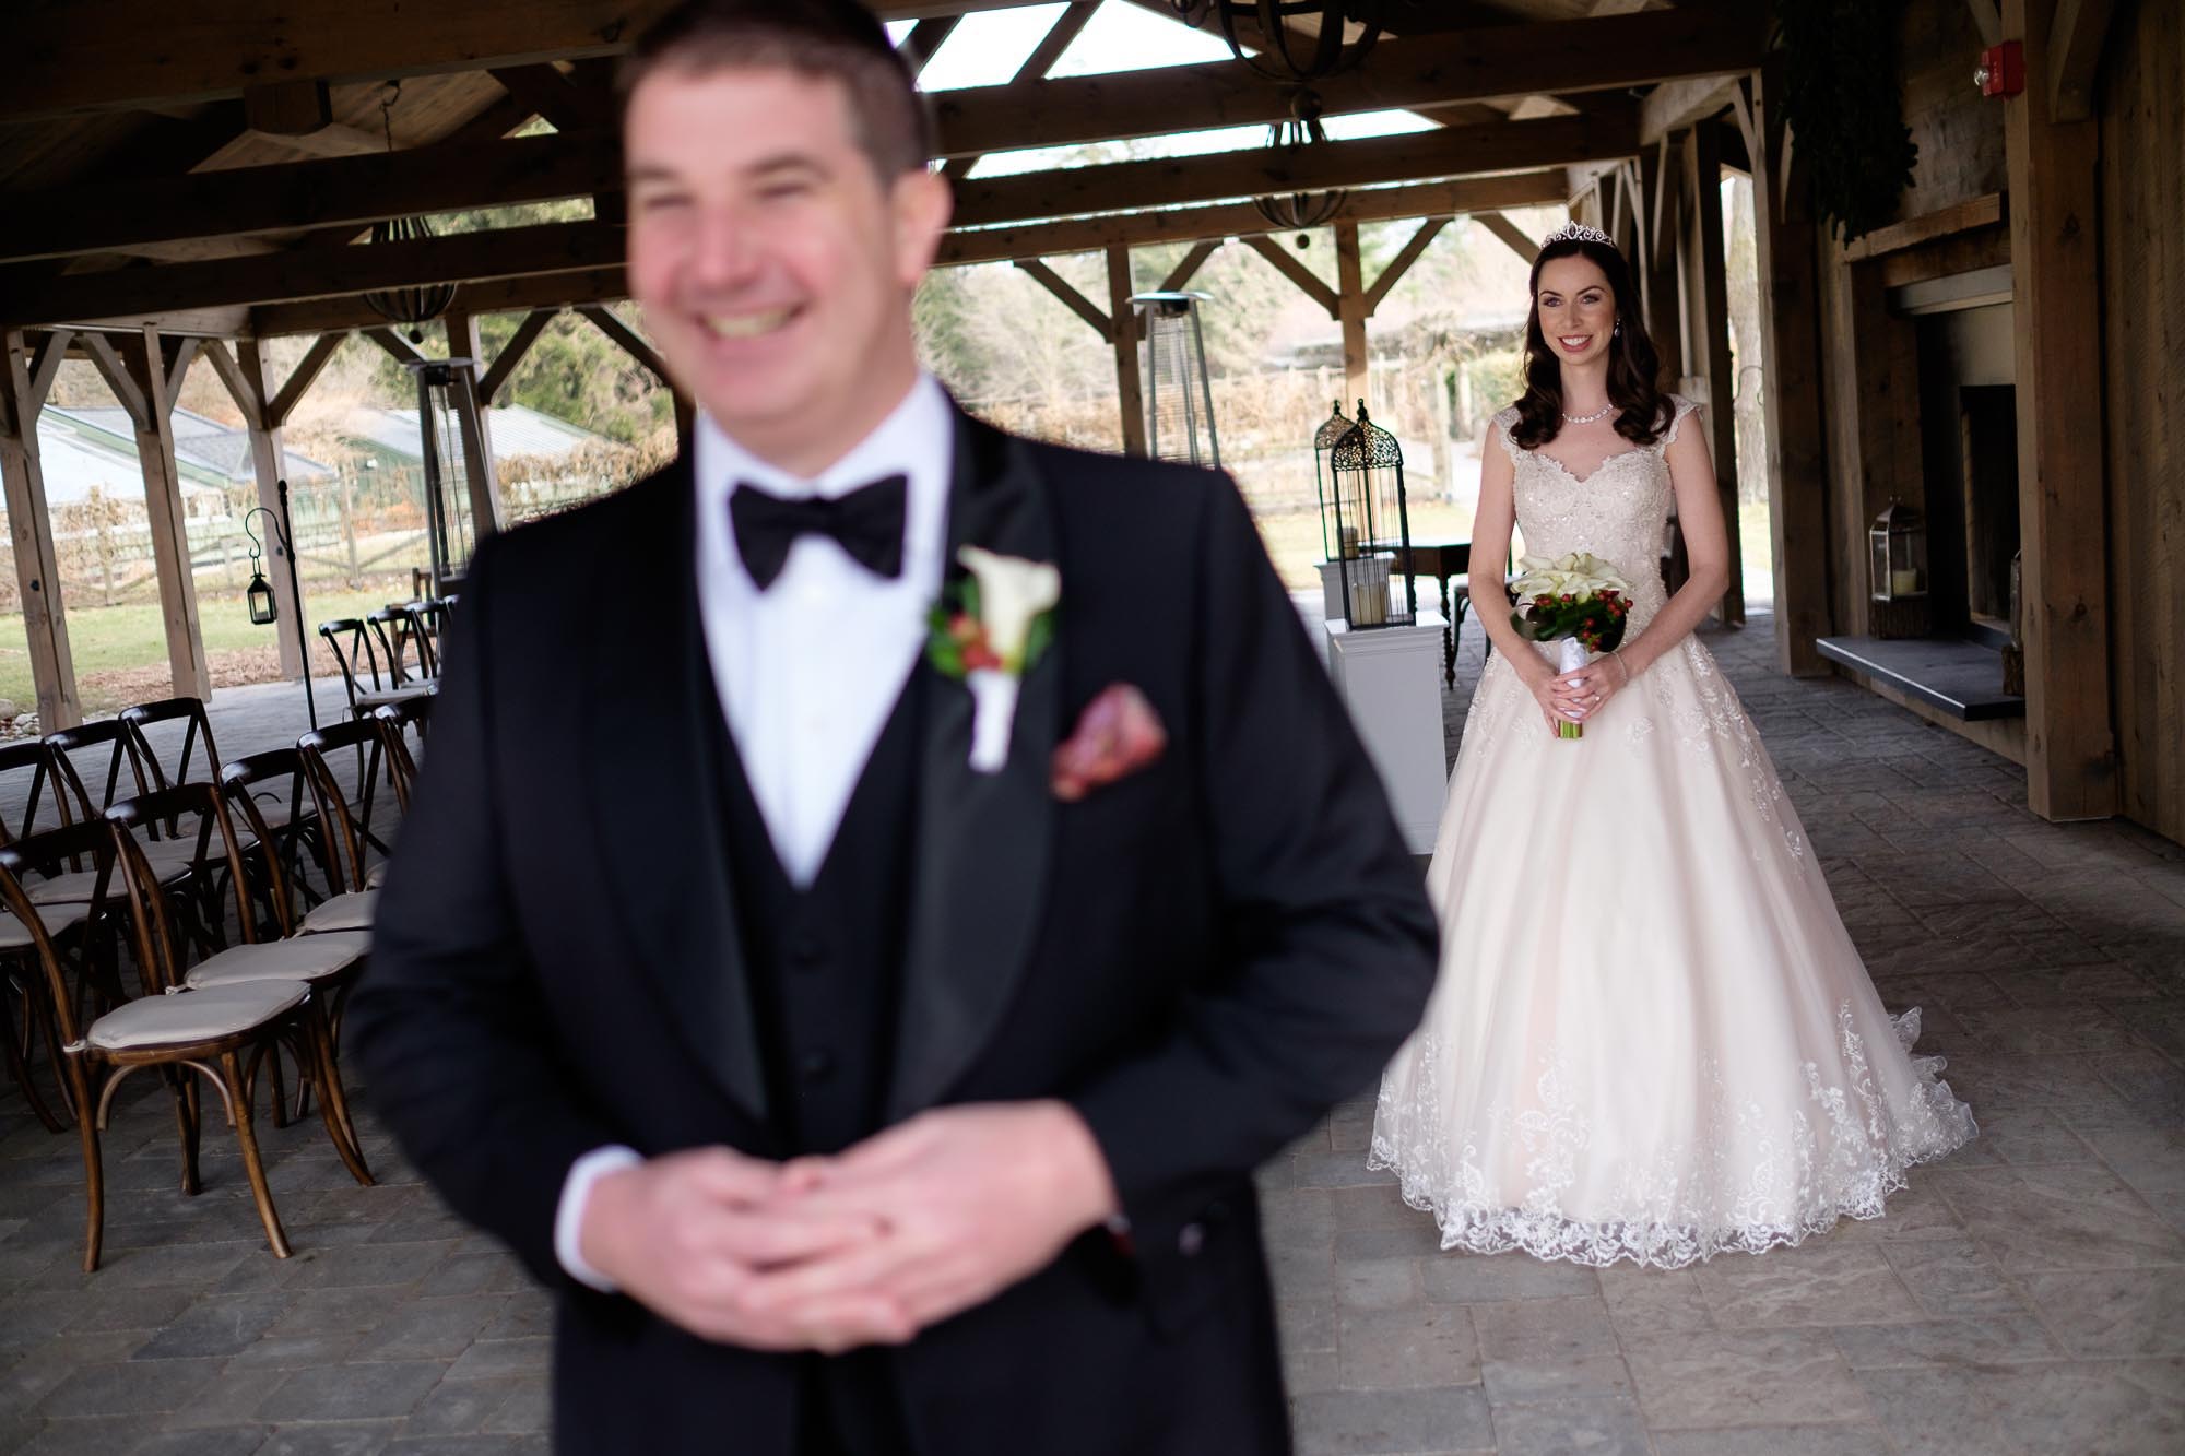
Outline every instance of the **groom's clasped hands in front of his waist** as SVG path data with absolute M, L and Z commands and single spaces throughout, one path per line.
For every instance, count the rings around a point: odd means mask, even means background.
M 592 1185 L 579 1248 L 695 1336 L 839 1353 L 983 1303 L 1114 1211 L 1073 1108 L 994 1102 L 922 1113 L 837 1156 L 649 1159 Z

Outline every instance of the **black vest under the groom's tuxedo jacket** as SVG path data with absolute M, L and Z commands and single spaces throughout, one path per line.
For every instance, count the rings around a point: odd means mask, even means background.
M 841 1152 L 881 1130 L 902 995 L 924 676 L 913 667 L 804 890 L 782 870 L 734 739 L 712 715 L 730 892 L 784 1159 Z M 909 1449 L 885 1351 L 800 1364 L 800 1454 Z

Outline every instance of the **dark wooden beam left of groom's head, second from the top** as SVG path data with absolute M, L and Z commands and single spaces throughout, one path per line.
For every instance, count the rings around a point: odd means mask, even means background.
M 546 68 L 553 70 L 553 68 Z M 559 72 L 555 72 L 559 74 Z M 50 258 L 253 232 L 363 227 L 387 216 L 621 190 L 612 131 L 236 166 L 9 197 L 0 258 Z M 343 234 L 341 240 L 347 240 Z

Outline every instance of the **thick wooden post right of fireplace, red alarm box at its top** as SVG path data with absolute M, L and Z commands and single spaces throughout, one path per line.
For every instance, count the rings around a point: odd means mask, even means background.
M 2004 103 L 2017 326 L 2025 802 L 2047 820 L 2117 811 L 2109 702 L 2102 457 L 2100 122 L 2052 116 L 2054 0 L 2004 0 L 2025 90 Z

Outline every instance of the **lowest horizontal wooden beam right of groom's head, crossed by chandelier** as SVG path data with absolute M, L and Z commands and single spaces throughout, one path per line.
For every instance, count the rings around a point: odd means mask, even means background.
M 1492 208 L 1538 208 L 1562 199 L 1562 171 L 1554 168 L 1401 188 L 1363 188 L 1350 192 L 1331 221 L 1385 223 L 1409 216 L 1455 216 Z M 1252 203 L 1112 212 L 1064 223 L 950 232 L 942 238 L 940 265 L 1084 254 L 1099 251 L 1110 243 L 1193 243 L 1200 238 L 1252 238 L 1272 232 L 1291 230 L 1276 230 Z

